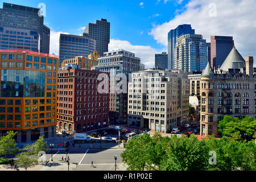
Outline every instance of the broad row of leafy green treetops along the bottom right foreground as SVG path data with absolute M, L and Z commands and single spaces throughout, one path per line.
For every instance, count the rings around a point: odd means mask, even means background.
M 205 171 L 256 170 L 253 141 L 244 142 L 214 137 L 199 140 L 195 135 L 162 137 L 155 133 L 132 138 L 121 154 L 128 170 Z M 212 153 L 216 164 L 210 163 Z

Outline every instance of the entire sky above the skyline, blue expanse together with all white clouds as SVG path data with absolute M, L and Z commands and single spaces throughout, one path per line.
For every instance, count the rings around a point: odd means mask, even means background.
M 109 50 L 123 48 L 141 57 L 146 68 L 155 53 L 167 51 L 167 34 L 179 24 L 191 24 L 196 34 L 233 36 L 245 58 L 256 56 L 255 0 L 6 0 L 38 7 L 46 5 L 44 24 L 51 28 L 50 53 L 59 53 L 59 34 L 82 34 L 82 27 L 105 18 L 110 22 Z M 256 61 L 255 61 L 256 62 Z

